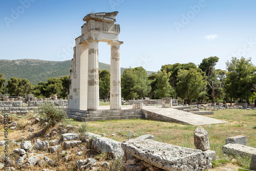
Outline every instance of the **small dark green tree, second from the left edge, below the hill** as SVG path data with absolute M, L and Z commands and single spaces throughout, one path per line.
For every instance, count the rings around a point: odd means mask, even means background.
M 11 96 L 19 96 L 19 94 L 22 92 L 22 89 L 20 88 L 22 84 L 22 80 L 20 78 L 12 77 L 8 80 L 7 88 L 8 93 Z

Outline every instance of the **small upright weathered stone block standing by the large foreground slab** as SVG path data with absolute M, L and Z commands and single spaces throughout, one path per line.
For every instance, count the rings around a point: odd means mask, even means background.
M 202 126 L 198 126 L 194 133 L 194 144 L 196 148 L 206 151 L 210 148 L 210 142 L 207 131 Z

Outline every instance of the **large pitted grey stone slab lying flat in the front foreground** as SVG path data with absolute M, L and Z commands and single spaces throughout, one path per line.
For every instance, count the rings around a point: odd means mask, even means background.
M 121 144 L 124 152 L 164 170 L 205 170 L 211 168 L 208 155 L 200 149 L 185 148 L 151 139 L 132 139 Z

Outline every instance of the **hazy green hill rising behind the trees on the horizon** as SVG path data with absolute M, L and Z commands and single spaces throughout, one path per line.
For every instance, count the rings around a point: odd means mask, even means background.
M 70 75 L 72 61 L 49 61 L 39 59 L 0 59 L 0 74 L 3 73 L 7 81 L 11 77 L 27 78 L 33 84 L 46 81 L 47 78 Z M 121 68 L 121 73 L 126 68 Z M 110 65 L 99 62 L 99 70 L 110 71 Z M 153 73 L 147 71 L 148 74 Z

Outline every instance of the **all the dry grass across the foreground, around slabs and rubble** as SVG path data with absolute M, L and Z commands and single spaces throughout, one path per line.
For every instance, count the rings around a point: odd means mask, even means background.
M 236 135 L 245 135 L 247 136 L 248 146 L 256 147 L 256 111 L 254 110 L 236 110 L 230 109 L 226 111 L 215 111 L 215 115 L 208 116 L 211 118 L 216 118 L 220 120 L 228 121 L 225 124 L 212 124 L 212 125 L 203 125 L 204 129 L 208 132 L 209 140 L 210 140 L 210 149 L 216 151 L 217 161 L 218 163 L 228 164 L 231 166 L 223 166 L 219 164 L 213 164 L 214 168 L 211 170 L 225 170 L 223 167 L 236 169 L 234 166 L 247 168 L 249 169 L 249 159 L 227 156 L 222 152 L 222 146 L 225 145 L 225 139 L 227 137 L 236 136 Z M 8 139 L 20 139 L 22 141 L 22 137 L 29 137 L 30 139 L 35 139 L 36 137 L 30 136 L 28 133 L 28 129 L 30 126 L 35 126 L 35 130 L 33 132 L 37 133 L 41 130 L 39 123 L 33 123 L 34 120 L 33 114 L 30 116 L 24 116 L 18 119 L 15 115 L 10 115 L 10 119 L 13 121 L 16 120 L 18 122 L 18 130 L 9 130 Z M 33 125 L 29 125 L 28 122 L 32 122 Z M 82 126 L 85 125 L 84 122 L 79 122 L 73 119 L 68 119 L 65 124 L 55 126 L 57 128 L 57 132 L 60 129 L 69 129 L 66 127 L 67 124 L 71 124 L 74 126 Z M 84 127 L 84 126 L 83 126 Z M 138 135 L 151 134 L 154 135 L 157 141 L 166 142 L 173 145 L 184 146 L 195 148 L 194 146 L 194 131 L 197 126 L 193 125 L 184 125 L 179 123 L 171 123 L 171 122 L 161 122 L 161 121 L 153 121 L 153 120 L 111 120 L 111 121 L 96 121 L 96 122 L 87 122 L 87 131 L 95 134 L 104 133 L 107 134 L 106 137 L 114 139 L 116 141 L 122 142 L 128 139 L 127 135 L 131 132 L 132 135 L 138 137 Z M 0 125 L 0 137 L 4 137 L 3 124 Z M 69 130 L 69 132 L 77 132 L 79 133 L 79 129 Z M 48 130 L 46 134 L 51 134 L 51 129 Z M 115 134 L 112 136 L 112 134 Z M 138 134 L 138 135 L 137 135 Z M 51 139 L 60 139 L 59 135 L 51 135 Z M 1 138 L 0 140 L 2 140 Z M 47 137 L 42 136 L 39 137 L 40 140 L 48 140 Z M 32 144 L 33 145 L 33 144 Z M 77 156 L 77 150 L 85 146 L 84 153 L 82 156 Z M 39 154 L 44 154 L 48 158 L 55 160 L 55 165 L 45 164 L 41 167 L 36 165 L 33 166 L 31 170 L 41 170 L 42 168 L 53 169 L 53 170 L 78 170 L 76 167 L 76 161 L 79 159 L 86 159 L 88 157 L 94 158 L 97 161 L 103 162 L 108 160 L 108 156 L 104 154 L 98 154 L 95 151 L 91 151 L 86 147 L 86 144 L 80 144 L 75 148 L 71 148 L 70 159 L 68 161 L 63 161 L 62 156 L 58 155 L 58 153 L 50 154 L 48 152 L 38 151 Z M 13 159 L 17 159 L 17 155 L 12 153 L 12 149 L 18 148 L 13 144 L 10 144 L 9 147 L 9 155 Z M 0 156 L 3 156 L 3 148 L 0 149 Z M 232 162 L 232 159 L 236 159 L 236 162 Z M 115 162 L 114 162 L 115 163 Z M 109 170 L 110 168 L 101 168 L 100 170 Z M 23 169 L 23 170 L 29 170 Z

